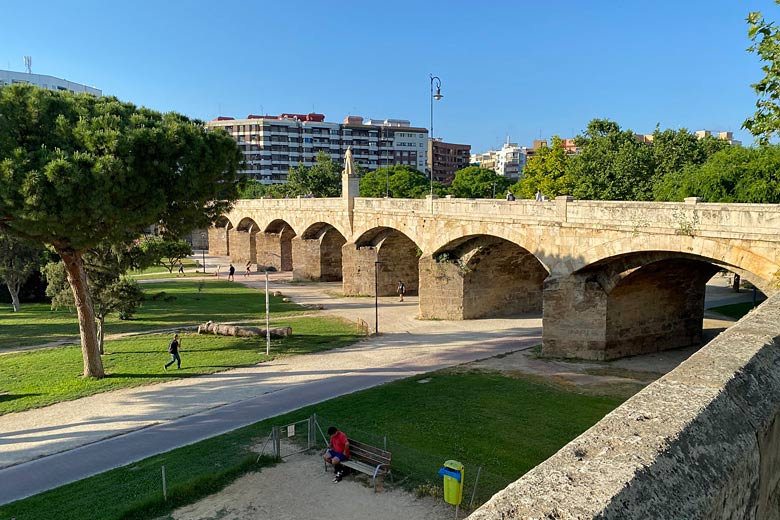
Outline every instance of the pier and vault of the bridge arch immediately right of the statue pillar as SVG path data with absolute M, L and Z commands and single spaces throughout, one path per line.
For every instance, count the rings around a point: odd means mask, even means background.
M 420 248 L 397 229 L 378 226 L 364 231 L 344 245 L 342 258 L 344 294 L 374 294 L 376 284 L 379 296 L 392 296 L 399 280 L 406 285 L 406 294 L 418 293 Z

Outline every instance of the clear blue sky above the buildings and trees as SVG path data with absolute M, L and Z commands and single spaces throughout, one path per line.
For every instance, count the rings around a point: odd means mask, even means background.
M 650 133 L 741 130 L 760 63 L 745 17 L 771 0 L 4 2 L 0 68 L 161 111 L 321 112 L 430 125 L 484 151 L 573 137 L 593 118 Z

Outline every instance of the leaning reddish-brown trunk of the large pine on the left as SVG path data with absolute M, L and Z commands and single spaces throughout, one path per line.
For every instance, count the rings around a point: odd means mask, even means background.
M 81 252 L 72 249 L 57 248 L 68 273 L 68 283 L 73 290 L 73 300 L 79 317 L 79 332 L 81 333 L 81 357 L 84 360 L 84 377 L 105 376 L 103 360 L 98 352 L 97 330 L 95 328 L 95 311 L 92 308 L 92 298 L 87 285 L 87 271 L 81 259 Z

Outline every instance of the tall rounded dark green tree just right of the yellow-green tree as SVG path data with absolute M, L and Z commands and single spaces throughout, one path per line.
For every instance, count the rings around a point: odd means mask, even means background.
M 575 143 L 580 153 L 571 158 L 568 171 L 576 198 L 653 199 L 653 152 L 633 132 L 614 121 L 594 119 Z

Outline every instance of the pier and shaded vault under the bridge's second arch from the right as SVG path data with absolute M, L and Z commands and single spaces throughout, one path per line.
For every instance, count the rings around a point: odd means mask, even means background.
M 474 319 L 542 311 L 547 269 L 493 235 L 451 241 L 420 260 L 420 317 Z

